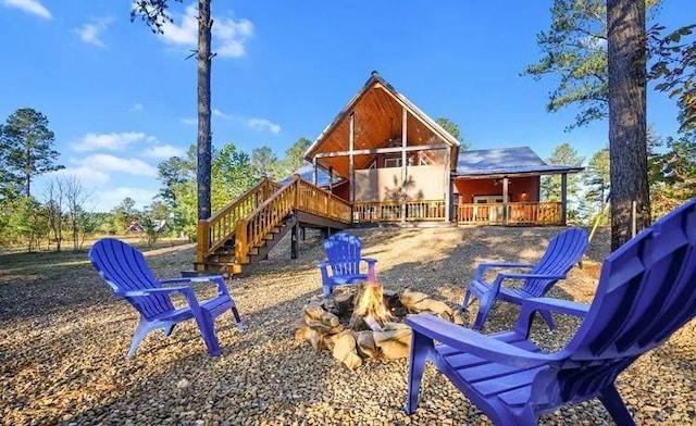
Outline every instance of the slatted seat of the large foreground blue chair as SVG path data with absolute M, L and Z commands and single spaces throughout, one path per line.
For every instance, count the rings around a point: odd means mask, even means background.
M 513 331 L 492 337 L 527 351 L 542 351 L 537 346 Z M 497 398 L 510 408 L 522 406 L 530 401 L 534 377 L 540 369 L 547 368 L 545 365 L 527 368 L 499 364 L 446 344 L 435 346 L 435 351 L 439 361 L 470 386 L 468 390 L 476 393 L 475 396 L 468 394 L 470 399 Z M 464 391 L 464 393 L 468 392 Z

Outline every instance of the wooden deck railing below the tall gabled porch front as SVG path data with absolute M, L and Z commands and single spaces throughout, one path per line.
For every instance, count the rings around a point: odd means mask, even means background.
M 401 222 L 400 201 L 355 202 L 353 222 Z M 445 200 L 406 202 L 406 221 L 444 221 Z

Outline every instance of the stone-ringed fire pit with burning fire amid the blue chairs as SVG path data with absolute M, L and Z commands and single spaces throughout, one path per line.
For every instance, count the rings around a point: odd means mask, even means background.
M 401 321 L 407 314 L 430 312 L 455 324 L 461 317 L 445 302 L 426 293 L 385 290 L 381 284 L 338 287 L 331 298 L 304 306 L 295 338 L 308 341 L 316 352 L 328 350 L 348 368 L 369 359 L 407 358 L 411 328 Z

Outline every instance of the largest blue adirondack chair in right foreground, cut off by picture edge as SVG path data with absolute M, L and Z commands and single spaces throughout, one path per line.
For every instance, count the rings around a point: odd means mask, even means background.
M 538 310 L 585 320 L 566 348 L 545 353 L 527 340 Z M 406 411 L 415 411 L 423 367 L 431 361 L 497 425 L 536 424 L 542 414 L 595 397 L 617 424 L 633 425 L 614 386 L 617 376 L 694 316 L 696 200 L 610 254 L 589 306 L 529 299 L 514 330 L 490 336 L 427 314 L 409 317 L 413 341 Z

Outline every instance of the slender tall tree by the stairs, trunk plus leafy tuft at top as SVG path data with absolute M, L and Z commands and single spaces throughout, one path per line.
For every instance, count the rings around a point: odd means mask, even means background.
M 169 5 L 182 0 L 135 0 L 130 12 L 130 20 L 142 18 L 153 33 L 162 33 L 165 22 L 172 18 L 167 13 Z M 210 16 L 210 1 L 198 0 L 198 218 L 210 217 L 211 211 L 211 163 L 212 135 L 210 131 L 210 68 L 211 54 L 210 38 L 213 21 Z

